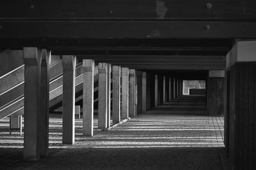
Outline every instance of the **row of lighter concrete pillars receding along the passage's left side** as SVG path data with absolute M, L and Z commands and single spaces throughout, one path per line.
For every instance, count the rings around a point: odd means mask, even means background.
M 63 55 L 63 135 L 65 144 L 75 142 L 76 56 Z M 51 52 L 24 48 L 24 159 L 48 155 L 49 145 L 49 64 Z M 98 128 L 110 127 L 111 76 L 113 124 L 147 110 L 147 73 L 100 62 Z M 95 61 L 83 60 L 83 134 L 93 136 L 93 92 Z M 138 75 L 138 76 L 137 76 Z

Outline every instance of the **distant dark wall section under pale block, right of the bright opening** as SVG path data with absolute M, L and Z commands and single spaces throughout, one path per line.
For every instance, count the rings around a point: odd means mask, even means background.
M 208 114 L 223 115 L 224 104 L 225 104 L 224 103 L 224 78 L 208 78 L 207 79 Z

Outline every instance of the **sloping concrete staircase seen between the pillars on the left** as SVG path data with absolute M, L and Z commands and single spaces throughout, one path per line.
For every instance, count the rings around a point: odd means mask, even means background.
M 19 50 L 20 51 L 20 50 Z M 1 55 L 10 55 L 10 50 L 0 53 Z M 15 57 L 22 57 L 22 53 L 17 52 L 14 55 L 8 56 L 10 59 Z M 5 70 L 7 73 L 0 77 L 0 119 L 10 115 L 23 115 L 24 114 L 24 64 L 19 62 L 16 67 Z M 52 56 L 50 65 L 49 78 L 49 106 L 53 111 L 60 108 L 62 105 L 62 61 L 60 56 Z M 95 89 L 97 92 L 98 87 L 98 69 L 95 67 Z M 83 99 L 83 67 L 81 63 L 76 66 L 76 102 Z M 97 99 L 95 99 L 97 101 Z

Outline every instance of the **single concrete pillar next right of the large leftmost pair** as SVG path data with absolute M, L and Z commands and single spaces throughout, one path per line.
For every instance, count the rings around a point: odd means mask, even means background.
M 62 143 L 75 143 L 76 56 L 63 55 Z

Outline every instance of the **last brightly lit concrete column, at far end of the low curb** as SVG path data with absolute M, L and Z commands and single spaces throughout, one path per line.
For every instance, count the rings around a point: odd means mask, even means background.
M 129 69 L 129 117 L 136 116 L 135 69 Z

